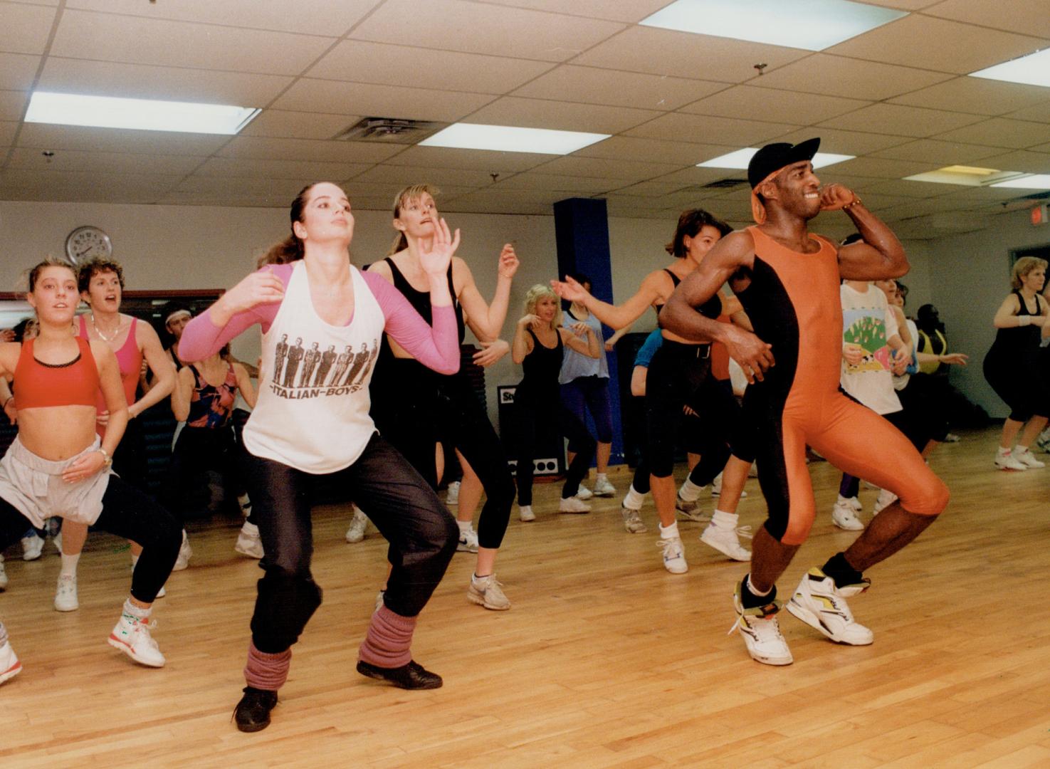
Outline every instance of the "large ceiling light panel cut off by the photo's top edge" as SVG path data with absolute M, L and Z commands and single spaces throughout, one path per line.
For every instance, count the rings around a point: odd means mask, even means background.
M 907 16 L 849 0 L 677 0 L 639 24 L 823 50 Z

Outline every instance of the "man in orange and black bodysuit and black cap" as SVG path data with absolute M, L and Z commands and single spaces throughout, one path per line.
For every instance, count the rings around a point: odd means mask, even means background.
M 723 342 L 754 383 L 744 415 L 757 432 L 759 483 L 769 518 L 755 535 L 751 573 L 738 585 L 738 627 L 752 658 L 788 665 L 791 650 L 776 620 L 777 578 L 805 541 L 815 502 L 805 466 L 812 445 L 837 467 L 897 494 L 843 553 L 802 577 L 788 610 L 839 643 L 872 643 L 846 598 L 867 588 L 863 573 L 897 553 L 948 503 L 948 489 L 895 427 L 839 391 L 842 278 L 877 280 L 908 270 L 889 228 L 850 190 L 821 190 L 812 160 L 819 139 L 771 144 L 748 168 L 757 226 L 723 237 L 682 280 L 659 323 L 691 339 Z M 842 210 L 863 241 L 838 247 L 811 234 L 821 210 Z M 730 283 L 755 332 L 705 318 L 699 307 Z

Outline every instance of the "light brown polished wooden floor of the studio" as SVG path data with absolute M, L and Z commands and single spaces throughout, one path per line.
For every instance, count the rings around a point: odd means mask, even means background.
M 875 644 L 838 646 L 784 612 L 795 657 L 784 668 L 753 662 L 727 635 L 746 566 L 701 544 L 701 524 L 679 524 L 690 570 L 670 575 L 651 506 L 652 531 L 629 535 L 620 497 L 559 516 L 547 484 L 534 523 L 516 508 L 498 563 L 513 607 L 468 603 L 474 557 L 457 554 L 413 647 L 444 688 L 383 686 L 354 665 L 384 543 L 370 527 L 346 544 L 345 511 L 318 508 L 324 603 L 294 647 L 273 724 L 256 734 L 230 722 L 260 575 L 233 552 L 239 521 L 191 526 L 192 565 L 154 611 L 161 670 L 106 644 L 126 545 L 92 535 L 70 614 L 51 607 L 50 543 L 28 563 L 16 546 L 0 618 L 24 669 L 0 686 L 0 766 L 1047 767 L 1050 467 L 994 471 L 995 439 L 966 433 L 934 454 L 948 512 L 852 601 Z M 783 593 L 855 536 L 831 522 L 834 469 L 812 469 L 823 512 Z M 626 490 L 629 477 L 612 480 Z M 757 526 L 764 505 L 748 487 L 741 523 Z M 861 493 L 866 506 L 875 494 Z

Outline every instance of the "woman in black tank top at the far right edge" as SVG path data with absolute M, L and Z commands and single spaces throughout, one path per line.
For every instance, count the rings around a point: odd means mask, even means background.
M 995 394 L 1010 407 L 995 454 L 1000 470 L 1042 467 L 1044 462 L 1028 450 L 1050 415 L 1050 392 L 1040 341 L 1047 335 L 1050 308 L 1040 298 L 1047 263 L 1023 256 L 1013 266 L 1013 291 L 1000 305 L 992 324 L 995 341 L 984 359 L 984 375 Z M 1024 430 L 1022 430 L 1022 428 Z M 1020 434 L 1020 438 L 1017 437 Z M 1016 446 L 1014 446 L 1016 441 Z

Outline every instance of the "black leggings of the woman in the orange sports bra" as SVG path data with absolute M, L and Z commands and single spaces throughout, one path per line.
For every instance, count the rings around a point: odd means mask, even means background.
M 0 499 L 0 553 L 25 534 L 28 519 Z M 150 603 L 171 574 L 183 542 L 182 526 L 164 507 L 117 476 L 109 476 L 102 496 L 102 515 L 92 525 L 142 545 L 131 573 L 131 596 Z

